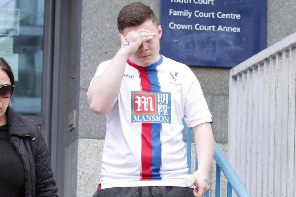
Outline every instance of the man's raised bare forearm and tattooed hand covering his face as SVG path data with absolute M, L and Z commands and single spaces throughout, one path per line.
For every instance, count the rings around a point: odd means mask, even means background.
M 143 42 L 151 40 L 154 35 L 156 33 L 142 28 L 132 30 L 126 36 L 119 34 L 121 48 L 109 66 L 88 89 L 88 103 L 94 113 L 104 115 L 112 110 L 121 86 L 126 60 L 138 50 Z

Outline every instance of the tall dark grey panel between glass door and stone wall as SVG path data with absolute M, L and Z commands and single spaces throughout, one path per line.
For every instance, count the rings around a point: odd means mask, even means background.
M 80 37 L 81 37 L 81 1 L 63 0 L 56 10 L 61 18 L 61 54 L 60 74 L 64 77 L 64 185 L 58 186 L 59 196 L 77 196 L 78 155 L 81 149 L 78 141 L 79 98 L 80 98 Z M 69 130 L 68 117 L 76 111 L 75 127 Z M 60 118 L 60 115 L 59 115 Z M 61 150 L 60 150 L 61 151 Z M 60 164 L 61 165 L 61 164 Z

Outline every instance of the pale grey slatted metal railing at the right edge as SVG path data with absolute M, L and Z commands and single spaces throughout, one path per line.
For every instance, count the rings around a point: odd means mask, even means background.
M 228 158 L 252 196 L 295 196 L 296 33 L 230 70 Z

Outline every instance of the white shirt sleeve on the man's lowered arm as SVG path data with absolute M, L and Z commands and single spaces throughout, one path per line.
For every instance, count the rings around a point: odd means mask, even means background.
M 213 120 L 200 84 L 193 72 L 191 70 L 190 72 L 187 78 L 189 86 L 187 88 L 184 117 L 189 128 Z

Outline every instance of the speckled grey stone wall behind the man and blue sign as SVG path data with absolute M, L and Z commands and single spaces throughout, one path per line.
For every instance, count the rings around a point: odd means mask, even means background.
M 80 70 L 77 72 L 79 90 L 75 91 L 69 111 L 76 109 L 76 128 L 69 134 L 64 196 L 92 196 L 99 181 L 100 160 L 105 138 L 105 117 L 93 114 L 88 107 L 86 92 L 98 64 L 111 59 L 120 47 L 117 30 L 117 14 L 131 0 L 83 0 L 81 5 L 81 53 Z M 150 6 L 159 18 L 160 0 L 140 1 Z M 293 0 L 269 0 L 268 2 L 268 45 L 296 31 L 295 3 Z M 289 13 L 289 14 L 287 14 Z M 284 27 L 280 25 L 286 24 Z M 205 94 L 214 117 L 212 124 L 215 140 L 225 147 L 228 131 L 228 88 L 229 69 L 192 67 Z M 71 80 L 69 81 L 71 84 Z M 74 88 L 77 90 L 76 88 Z M 69 101 L 70 102 L 70 101 Z M 223 148 L 226 154 L 226 148 Z M 77 166 L 73 164 L 77 162 Z M 73 164 L 70 166 L 70 164 Z M 66 189 L 65 189 L 66 191 Z

